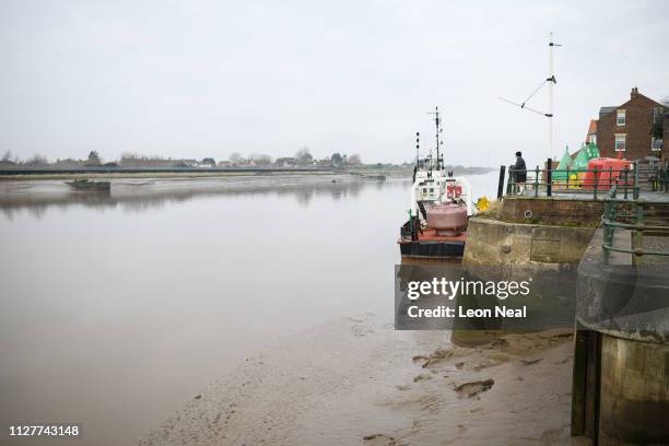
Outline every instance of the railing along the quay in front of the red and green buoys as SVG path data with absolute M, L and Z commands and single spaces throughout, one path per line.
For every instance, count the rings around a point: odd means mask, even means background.
M 500 168 L 497 198 L 504 195 L 504 169 Z M 524 175 L 525 174 L 525 175 Z M 523 180 L 525 176 L 525 180 Z M 559 193 L 586 195 L 602 199 L 613 187 L 624 198 L 638 198 L 641 181 L 636 163 L 624 168 L 553 169 L 550 163 L 545 168 L 515 169 L 509 167 L 506 181 L 506 196 L 551 197 Z

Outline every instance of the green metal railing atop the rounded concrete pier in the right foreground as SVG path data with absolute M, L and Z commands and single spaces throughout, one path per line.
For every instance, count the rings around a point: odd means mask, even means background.
M 669 225 L 648 224 L 647 210 L 657 204 L 642 199 L 626 199 L 618 197 L 618 187 L 613 186 L 605 197 L 605 212 L 601 216 L 603 226 L 602 249 L 605 261 L 608 262 L 612 251 L 632 255 L 632 262 L 638 265 L 643 256 L 669 256 L 669 250 L 645 249 L 644 234 L 655 233 L 669 234 Z M 658 219 L 660 222 L 665 219 Z M 632 232 L 630 247 L 614 245 L 615 228 L 623 228 Z

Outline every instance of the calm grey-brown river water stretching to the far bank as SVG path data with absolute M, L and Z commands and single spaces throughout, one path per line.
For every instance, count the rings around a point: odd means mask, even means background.
M 474 193 L 495 177 L 471 177 Z M 0 189 L 2 435 L 71 421 L 72 444 L 134 444 L 268 341 L 391 315 L 409 181 L 203 181 Z

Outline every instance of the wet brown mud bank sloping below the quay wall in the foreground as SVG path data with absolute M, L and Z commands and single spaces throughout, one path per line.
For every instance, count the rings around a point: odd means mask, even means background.
M 570 444 L 571 332 L 448 337 L 331 321 L 248 357 L 140 445 Z

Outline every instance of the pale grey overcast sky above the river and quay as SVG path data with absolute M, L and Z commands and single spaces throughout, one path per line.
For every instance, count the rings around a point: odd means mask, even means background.
M 0 0 L 0 151 L 403 162 L 444 111 L 447 163 L 548 153 L 523 99 L 555 51 L 555 154 L 630 90 L 669 96 L 669 1 Z M 544 110 L 547 92 L 528 105 Z

